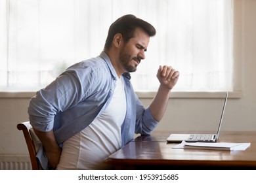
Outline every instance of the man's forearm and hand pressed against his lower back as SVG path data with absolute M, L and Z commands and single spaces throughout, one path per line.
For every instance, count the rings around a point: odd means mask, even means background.
M 34 131 L 45 148 L 45 153 L 48 158 L 48 165 L 56 169 L 60 161 L 61 148 L 58 146 L 55 140 L 53 130 L 38 131 L 37 129 L 34 129 Z

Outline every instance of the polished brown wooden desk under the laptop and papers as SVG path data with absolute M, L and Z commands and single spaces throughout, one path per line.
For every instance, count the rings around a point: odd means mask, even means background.
M 116 169 L 256 169 L 256 131 L 223 131 L 219 142 L 251 142 L 244 151 L 173 149 L 169 131 L 139 136 L 112 154 Z M 176 132 L 175 132 L 176 133 Z

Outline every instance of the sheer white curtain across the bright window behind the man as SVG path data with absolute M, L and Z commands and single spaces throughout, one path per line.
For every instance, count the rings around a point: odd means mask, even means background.
M 159 65 L 176 91 L 232 90 L 232 0 L 0 0 L 0 90 L 34 91 L 69 65 L 95 57 L 108 27 L 135 14 L 156 27 L 135 90 L 156 91 Z

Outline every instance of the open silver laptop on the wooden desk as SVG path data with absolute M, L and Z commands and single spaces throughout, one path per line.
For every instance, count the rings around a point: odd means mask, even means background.
M 219 133 L 221 131 L 221 124 L 223 122 L 224 111 L 226 108 L 226 101 L 228 99 L 228 92 L 224 100 L 223 111 L 221 113 L 221 120 L 216 134 L 178 134 L 172 133 L 167 139 L 167 142 L 217 142 Z

